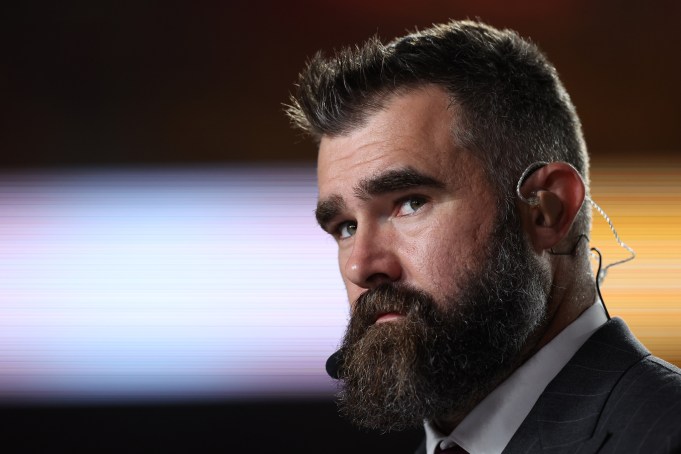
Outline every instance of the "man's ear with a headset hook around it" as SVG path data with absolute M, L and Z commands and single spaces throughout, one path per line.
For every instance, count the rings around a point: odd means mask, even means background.
M 535 250 L 551 249 L 565 238 L 584 202 L 584 181 L 565 162 L 552 162 L 531 173 L 520 186 L 522 225 Z M 527 201 L 530 203 L 526 203 Z

